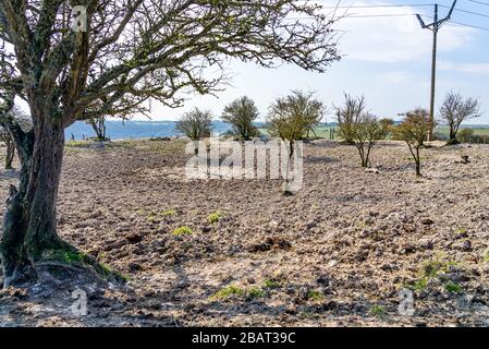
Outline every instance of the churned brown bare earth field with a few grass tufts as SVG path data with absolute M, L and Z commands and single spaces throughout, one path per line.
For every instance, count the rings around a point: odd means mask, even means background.
M 278 180 L 188 181 L 183 149 L 68 146 L 60 234 L 129 281 L 87 289 L 81 317 L 72 285 L 0 290 L 0 326 L 489 325 L 489 146 L 425 149 L 417 179 L 402 143 L 379 144 L 367 173 L 354 147 L 313 142 L 294 196 Z

